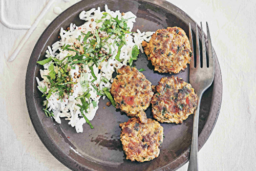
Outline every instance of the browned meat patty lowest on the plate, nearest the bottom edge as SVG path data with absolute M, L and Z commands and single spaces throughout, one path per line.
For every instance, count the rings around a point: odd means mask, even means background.
M 126 159 L 144 162 L 159 156 L 164 137 L 163 127 L 157 121 L 148 119 L 147 123 L 142 123 L 138 118 L 131 118 L 120 127 Z

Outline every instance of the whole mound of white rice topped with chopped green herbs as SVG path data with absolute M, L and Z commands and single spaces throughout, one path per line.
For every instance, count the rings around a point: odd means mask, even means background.
M 136 18 L 132 12 L 114 12 L 105 6 L 105 12 L 91 9 L 79 17 L 86 23 L 60 29 L 60 40 L 48 47 L 46 59 L 37 61 L 44 70 L 40 70 L 42 80 L 36 78 L 46 98 L 45 114 L 58 123 L 65 117 L 77 133 L 83 132 L 84 123 L 93 129 L 90 121 L 100 97 L 116 105 L 109 92 L 112 74 L 123 65 L 132 65 L 141 44 L 135 44 L 132 36 Z

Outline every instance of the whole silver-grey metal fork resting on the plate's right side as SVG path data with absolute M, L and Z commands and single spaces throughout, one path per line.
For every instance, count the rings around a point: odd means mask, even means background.
M 198 170 L 198 123 L 199 123 L 199 109 L 200 102 L 203 93 L 207 90 L 212 81 L 214 80 L 214 55 L 211 45 L 210 33 L 208 23 L 206 22 L 207 28 L 207 38 L 208 38 L 208 60 L 206 59 L 206 51 L 205 51 L 205 41 L 204 41 L 204 33 L 201 22 L 201 40 L 202 40 L 202 60 L 200 60 L 200 44 L 199 44 L 199 34 L 198 27 L 196 25 L 196 60 L 194 59 L 194 53 L 192 54 L 192 59 L 189 64 L 189 83 L 194 88 L 197 96 L 198 96 L 198 105 L 194 114 L 194 122 L 193 122 L 193 134 L 191 141 L 191 149 L 189 156 L 189 164 L 188 170 Z M 193 51 L 193 37 L 191 31 L 191 25 L 189 23 L 189 41 L 191 45 L 191 50 Z M 194 51 L 193 51 L 194 52 Z M 202 61 L 202 62 L 201 62 Z M 208 63 L 208 65 L 207 65 Z

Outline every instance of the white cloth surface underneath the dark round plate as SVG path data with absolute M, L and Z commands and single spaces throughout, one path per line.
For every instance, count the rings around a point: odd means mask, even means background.
M 4 17 L 11 24 L 32 25 L 47 0 L 4 2 Z M 6 59 L 27 30 L 12 30 L 0 23 L 0 170 L 69 170 L 39 140 L 25 100 L 25 76 L 30 54 L 45 20 L 76 0 L 56 0 L 40 20 L 17 58 Z M 208 22 L 223 79 L 222 105 L 216 126 L 199 152 L 200 170 L 256 170 L 256 2 L 174 1 L 196 22 Z M 186 170 L 187 165 L 179 171 Z

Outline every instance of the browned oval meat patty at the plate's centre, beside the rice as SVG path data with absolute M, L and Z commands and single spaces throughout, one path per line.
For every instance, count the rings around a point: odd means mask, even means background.
M 111 94 L 114 96 L 116 108 L 128 116 L 136 116 L 146 122 L 144 110 L 150 105 L 153 91 L 151 82 L 136 68 L 122 66 L 115 77 Z

